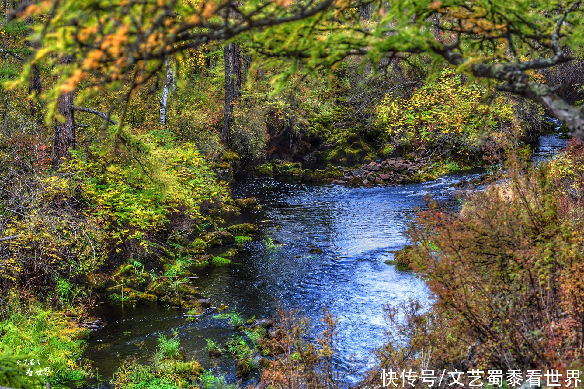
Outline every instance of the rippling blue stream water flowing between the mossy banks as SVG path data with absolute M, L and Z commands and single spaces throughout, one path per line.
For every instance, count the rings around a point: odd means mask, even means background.
M 563 142 L 563 143 L 561 143 Z M 565 146 L 557 135 L 542 136 L 534 155 L 544 156 Z M 406 244 L 404 231 L 416 208 L 425 208 L 427 194 L 446 208 L 454 208 L 451 183 L 472 180 L 484 170 L 450 174 L 422 184 L 387 187 L 349 187 L 307 184 L 269 178 L 239 181 L 232 189 L 234 198 L 256 197 L 259 211 L 242 212 L 234 223 L 251 222 L 260 226 L 280 246 L 266 250 L 258 236 L 232 258 L 235 264 L 200 268 L 194 284 L 214 305 L 227 304 L 242 311 L 244 318 L 272 317 L 274 299 L 284 307 L 301 307 L 317 318 L 322 307 L 329 307 L 339 318 L 341 367 L 354 355 L 364 362 L 368 352 L 383 342 L 385 304 L 408 299 L 426 299 L 425 284 L 411 272 L 384 263 L 392 259 L 392 250 Z M 310 246 L 322 254 L 309 254 Z M 215 248 L 219 255 L 230 247 Z M 203 367 L 226 374 L 235 381 L 234 363 L 223 356 L 211 366 L 203 352 L 205 339 L 223 343 L 233 333 L 225 320 L 213 314 L 201 316 L 198 323 L 185 319 L 186 310 L 164 304 L 126 304 L 123 307 L 102 304 L 95 316 L 107 325 L 93 332 L 84 358 L 98 368 L 105 381 L 119 367 L 120 359 L 138 353 L 143 344 L 154 351 L 158 332 L 179 330 L 181 345 L 189 358 L 193 354 Z M 318 320 L 314 320 L 318 324 Z M 252 377 L 253 379 L 253 377 Z M 94 380 L 91 384 L 95 385 Z

